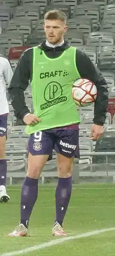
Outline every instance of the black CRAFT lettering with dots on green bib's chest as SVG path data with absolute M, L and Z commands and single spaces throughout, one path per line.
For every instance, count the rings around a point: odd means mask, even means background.
M 68 72 L 66 70 L 55 70 L 51 72 L 42 72 L 40 73 L 40 79 L 44 78 L 50 78 L 50 77 L 55 77 L 55 76 L 66 76 L 68 75 Z

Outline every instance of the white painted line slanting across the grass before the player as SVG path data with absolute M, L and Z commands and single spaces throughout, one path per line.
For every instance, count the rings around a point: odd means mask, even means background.
M 105 228 L 105 229 L 94 230 L 94 231 L 90 231 L 90 232 L 86 232 L 86 233 L 82 233 L 82 234 L 75 235 L 75 236 L 70 236 L 70 237 L 63 237 L 61 239 L 56 239 L 56 240 L 51 240 L 49 242 L 41 243 L 38 246 L 28 247 L 28 248 L 20 250 L 20 251 L 3 253 L 3 254 L 0 254 L 0 256 L 16 256 L 16 255 L 20 255 L 20 254 L 22 255 L 22 254 L 25 254 L 27 252 L 38 251 L 38 250 L 41 250 L 41 249 L 45 249 L 47 247 L 56 246 L 57 244 L 61 244 L 61 243 L 66 242 L 66 241 L 79 239 L 79 238 L 84 238 L 84 237 L 90 237 L 90 236 L 98 235 L 100 233 L 105 233 L 105 232 L 112 231 L 112 230 L 115 230 L 115 227 L 114 228 Z M 14 239 L 14 238 L 12 238 L 12 239 Z

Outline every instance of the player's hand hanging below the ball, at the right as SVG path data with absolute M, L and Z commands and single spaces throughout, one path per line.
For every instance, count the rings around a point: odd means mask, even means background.
M 103 134 L 103 126 L 93 125 L 90 132 L 90 140 L 98 140 Z

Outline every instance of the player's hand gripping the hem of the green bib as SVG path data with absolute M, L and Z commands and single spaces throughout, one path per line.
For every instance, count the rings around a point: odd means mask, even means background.
M 29 115 L 27 115 L 26 117 L 23 118 L 23 121 L 26 125 L 33 125 L 34 126 L 34 125 L 38 124 L 41 121 L 41 119 L 36 115 L 29 114 Z

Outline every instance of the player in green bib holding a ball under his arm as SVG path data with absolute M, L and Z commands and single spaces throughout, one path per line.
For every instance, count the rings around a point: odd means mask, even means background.
M 72 165 L 79 158 L 76 105 L 72 98 L 72 85 L 84 77 L 97 86 L 91 138 L 103 133 L 108 90 L 105 79 L 87 55 L 64 41 L 67 31 L 66 15 L 51 10 L 44 16 L 47 40 L 26 50 L 19 60 L 9 93 L 15 115 L 22 118 L 30 134 L 28 142 L 28 170 L 21 190 L 20 224 L 9 236 L 28 236 L 29 218 L 38 197 L 38 178 L 45 163 L 55 149 L 59 176 L 55 192 L 54 236 L 66 236 L 63 220 L 72 192 Z M 31 81 L 34 114 L 25 103 L 24 91 Z

